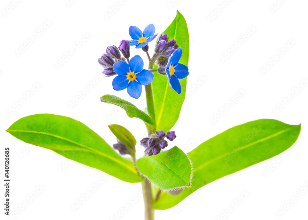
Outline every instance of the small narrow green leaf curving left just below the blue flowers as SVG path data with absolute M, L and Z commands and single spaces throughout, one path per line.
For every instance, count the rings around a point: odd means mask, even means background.
M 130 118 L 136 117 L 136 118 L 140 118 L 141 120 L 143 120 L 144 122 L 148 124 L 152 124 L 152 125 L 155 124 L 154 120 L 150 116 L 148 116 L 146 113 L 138 109 L 132 103 L 125 101 L 123 99 L 120 99 L 117 96 L 104 95 L 100 97 L 100 100 L 102 102 L 111 103 L 111 104 L 114 104 L 114 105 L 117 105 L 123 108 L 126 111 L 126 114 L 128 115 L 128 117 Z

